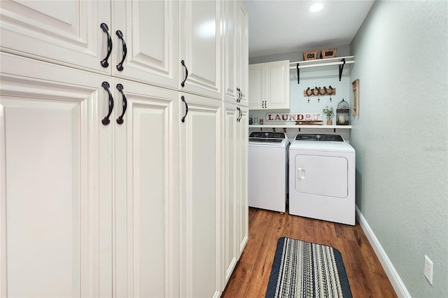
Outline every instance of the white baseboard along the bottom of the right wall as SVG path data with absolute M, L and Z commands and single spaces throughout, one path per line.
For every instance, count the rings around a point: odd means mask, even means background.
M 365 236 L 367 236 L 367 239 L 369 240 L 374 252 L 377 254 L 379 262 L 383 266 L 384 271 L 386 271 L 386 275 L 389 278 L 389 281 L 391 281 L 393 290 L 395 290 L 397 296 L 410 298 L 411 295 L 409 295 L 409 292 L 407 292 L 405 284 L 402 282 L 400 276 L 398 275 L 398 272 L 395 270 L 395 267 L 393 267 L 391 260 L 389 260 L 386 252 L 381 246 L 381 243 L 379 243 L 377 236 L 375 236 L 372 229 L 370 229 L 369 224 L 365 220 L 363 213 L 360 212 L 358 206 L 356 206 L 356 218 L 358 219 L 359 225 L 363 229 Z

